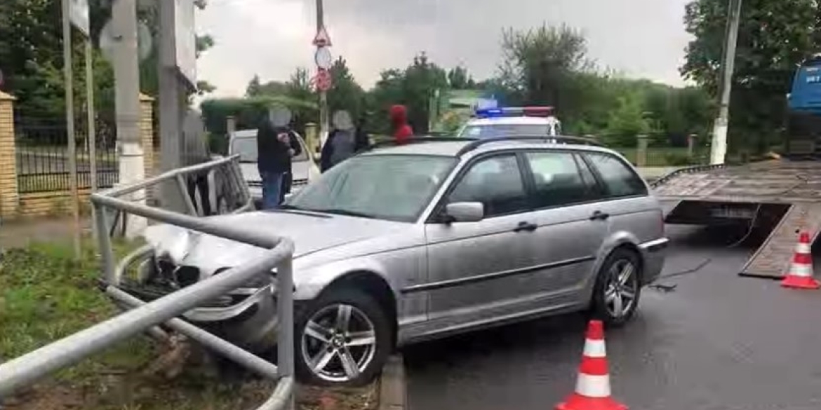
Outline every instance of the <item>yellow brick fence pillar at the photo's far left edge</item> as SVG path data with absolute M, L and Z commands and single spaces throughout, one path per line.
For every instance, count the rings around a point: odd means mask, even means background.
M 17 155 L 14 144 L 14 100 L 0 91 L 0 218 L 17 216 Z

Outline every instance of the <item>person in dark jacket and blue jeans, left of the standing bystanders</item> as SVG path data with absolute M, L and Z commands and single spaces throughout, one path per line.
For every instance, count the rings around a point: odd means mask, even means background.
M 302 148 L 291 130 L 291 112 L 273 107 L 257 130 L 257 168 L 262 177 L 263 208 L 273 209 L 285 198 L 286 178 L 291 174 L 291 157 Z

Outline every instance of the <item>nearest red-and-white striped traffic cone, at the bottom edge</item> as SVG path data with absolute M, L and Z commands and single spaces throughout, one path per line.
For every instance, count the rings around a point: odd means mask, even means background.
M 627 410 L 627 406 L 610 397 L 608 353 L 604 347 L 602 321 L 590 321 L 587 326 L 576 391 L 563 403 L 558 403 L 556 410 Z

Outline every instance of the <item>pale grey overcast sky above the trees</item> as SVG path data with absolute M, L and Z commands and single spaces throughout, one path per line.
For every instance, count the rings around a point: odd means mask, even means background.
M 493 75 L 502 28 L 566 23 L 583 30 L 589 57 L 631 77 L 681 85 L 689 39 L 687 0 L 326 0 L 334 57 L 345 57 L 360 84 L 405 67 L 418 52 L 440 66 Z M 218 96 L 241 96 L 250 78 L 287 80 L 313 65 L 314 0 L 210 0 L 198 11 L 200 33 L 216 46 L 198 62 Z

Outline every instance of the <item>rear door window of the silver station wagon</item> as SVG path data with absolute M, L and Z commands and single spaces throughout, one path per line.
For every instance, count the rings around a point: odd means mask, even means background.
M 536 207 L 557 207 L 590 198 L 572 153 L 525 153 L 533 172 Z

